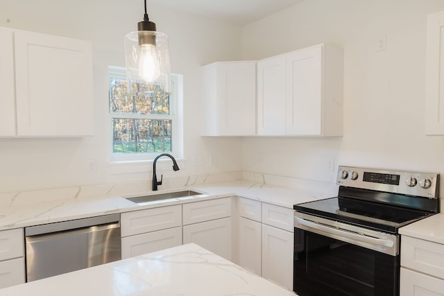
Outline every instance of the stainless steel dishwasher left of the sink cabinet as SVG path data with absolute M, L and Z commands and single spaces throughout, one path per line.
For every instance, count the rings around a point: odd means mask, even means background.
M 120 214 L 25 227 L 26 281 L 121 259 Z

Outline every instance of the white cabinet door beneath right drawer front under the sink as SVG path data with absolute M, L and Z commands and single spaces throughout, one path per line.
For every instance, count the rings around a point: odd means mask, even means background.
M 231 261 L 231 218 L 207 221 L 183 227 L 183 243 L 200 247 Z

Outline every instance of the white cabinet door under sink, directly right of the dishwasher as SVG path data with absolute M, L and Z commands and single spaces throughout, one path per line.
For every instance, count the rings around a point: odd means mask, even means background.
M 122 238 L 122 259 L 182 245 L 182 227 Z

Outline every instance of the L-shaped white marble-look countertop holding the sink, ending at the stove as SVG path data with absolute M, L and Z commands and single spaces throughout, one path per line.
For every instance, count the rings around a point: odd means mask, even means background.
M 176 191 L 182 189 L 177 189 Z M 122 196 L 105 195 L 80 198 L 74 194 L 74 192 L 67 194 L 65 191 L 61 194 L 63 198 L 58 198 L 57 191 L 56 193 L 51 191 L 51 194 L 47 195 L 46 193 L 40 194 L 36 198 L 11 198 L 8 204 L 3 204 L 0 207 L 0 230 L 56 223 L 65 220 L 102 216 L 106 214 L 123 213 L 127 211 L 183 204 L 200 200 L 210 200 L 232 195 L 239 195 L 241 197 L 268 202 L 291 209 L 293 209 L 293 204 L 318 200 L 321 198 L 330 198 L 333 196 L 326 195 L 325 193 L 316 193 L 283 186 L 258 184 L 252 181 L 203 184 L 199 186 L 190 186 L 186 189 L 198 191 L 203 194 L 186 198 L 157 200 L 154 202 L 148 202 L 144 205 L 130 202 Z M 171 191 L 173 190 L 160 190 L 157 192 L 149 191 L 139 194 L 128 194 L 125 197 L 167 193 Z M 27 193 L 23 193 L 22 195 L 26 194 Z M 31 195 L 31 193 L 28 193 L 28 195 Z M 35 200 L 35 202 L 24 202 L 24 200 Z

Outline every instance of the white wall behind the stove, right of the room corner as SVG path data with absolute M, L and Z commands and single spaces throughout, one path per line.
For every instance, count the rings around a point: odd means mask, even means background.
M 245 59 L 332 43 L 344 48 L 345 77 L 343 137 L 248 138 L 244 170 L 335 182 L 334 158 L 444 174 L 444 138 L 424 133 L 426 17 L 441 10 L 442 0 L 305 0 L 245 26 Z

